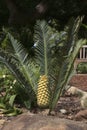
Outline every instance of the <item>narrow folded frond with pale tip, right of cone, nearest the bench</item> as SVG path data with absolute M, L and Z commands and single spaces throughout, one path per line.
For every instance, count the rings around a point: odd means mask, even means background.
M 61 95 L 63 88 L 66 86 L 68 78 L 69 78 L 71 71 L 72 71 L 73 63 L 74 63 L 75 58 L 78 54 L 78 51 L 81 48 L 81 46 L 85 43 L 86 43 L 86 40 L 79 40 L 78 42 L 76 42 L 76 46 L 73 50 L 73 53 L 71 53 L 71 55 L 69 55 L 67 57 L 67 59 L 64 61 L 63 65 L 60 69 L 58 84 L 57 84 L 57 87 L 56 87 L 55 92 L 54 92 L 54 97 L 53 97 L 51 109 L 53 109 L 55 107 L 55 105 L 56 105 L 56 103 Z

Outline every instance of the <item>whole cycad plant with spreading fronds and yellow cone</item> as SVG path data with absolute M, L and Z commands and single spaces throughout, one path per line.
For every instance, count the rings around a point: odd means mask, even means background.
M 70 22 L 65 31 L 55 32 L 45 21 L 37 21 L 34 33 L 35 56 L 30 57 L 24 46 L 6 32 L 14 55 L 0 49 L 0 61 L 14 74 L 27 90 L 29 101 L 52 111 L 73 71 L 74 60 L 86 40 L 77 34 L 82 17 Z M 26 41 L 25 41 L 26 42 Z

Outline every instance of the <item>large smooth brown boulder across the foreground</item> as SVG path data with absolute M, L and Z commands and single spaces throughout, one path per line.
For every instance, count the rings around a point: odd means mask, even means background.
M 87 130 L 83 122 L 60 119 L 56 116 L 24 113 L 6 123 L 2 130 Z

